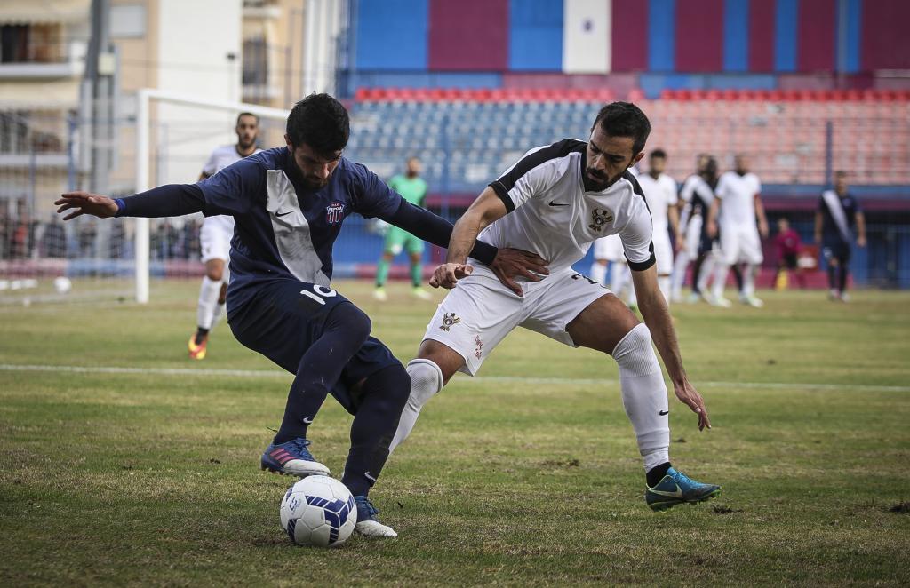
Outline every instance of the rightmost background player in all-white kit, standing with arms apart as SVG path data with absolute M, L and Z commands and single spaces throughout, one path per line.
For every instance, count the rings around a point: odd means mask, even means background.
M 722 307 L 731 305 L 730 300 L 723 298 L 727 273 L 733 264 L 745 263 L 740 301 L 761 307 L 764 303 L 755 298 L 755 274 L 764 259 L 759 235 L 768 236 L 761 198 L 762 183 L 749 171 L 748 157 L 737 155 L 735 165 L 734 171 L 723 172 L 718 180 L 708 213 L 708 234 L 713 238 L 719 232 L 721 244 L 711 302 Z

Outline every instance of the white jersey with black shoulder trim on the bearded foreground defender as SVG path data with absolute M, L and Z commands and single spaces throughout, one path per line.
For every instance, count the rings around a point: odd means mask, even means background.
M 536 147 L 491 182 L 509 214 L 478 238 L 499 248 L 532 251 L 556 274 L 583 259 L 595 239 L 619 235 L 629 266 L 650 268 L 652 220 L 642 188 L 627 172 L 600 192 L 585 190 L 587 145 L 565 139 Z

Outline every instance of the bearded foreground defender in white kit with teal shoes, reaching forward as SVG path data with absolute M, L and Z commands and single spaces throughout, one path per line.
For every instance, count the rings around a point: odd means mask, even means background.
M 604 106 L 587 143 L 565 139 L 529 151 L 491 182 L 452 232 L 447 263 L 430 285 L 452 289 L 430 320 L 418 359 L 408 364 L 410 399 L 391 447 L 414 427 L 420 408 L 457 371 L 474 375 L 516 327 L 535 330 L 573 347 L 611 354 L 619 365 L 622 402 L 644 459 L 645 500 L 654 510 L 701 502 L 720 487 L 672 468 L 667 390 L 654 342 L 676 396 L 710 428 L 701 395 L 682 368 L 676 334 L 654 268 L 652 219 L 628 168 L 642 158 L 651 131 L 632 104 Z M 517 283 L 483 265 L 469 266 L 478 235 L 497 247 L 520 248 L 546 259 L 540 275 Z M 608 289 L 572 268 L 596 238 L 618 234 L 632 269 L 647 326 Z M 649 330 L 650 328 L 650 330 Z

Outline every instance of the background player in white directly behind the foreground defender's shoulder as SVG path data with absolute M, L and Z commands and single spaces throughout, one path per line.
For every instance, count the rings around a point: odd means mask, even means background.
M 680 217 L 679 210 L 676 209 L 676 203 L 679 201 L 676 197 L 676 180 L 663 173 L 666 165 L 666 152 L 663 149 L 652 150 L 648 156 L 648 173 L 640 174 L 638 183 L 651 210 L 657 285 L 661 289 L 663 299 L 669 304 L 670 274 L 673 269 L 673 248 L 669 231 L 672 230 L 674 239 L 679 239 Z

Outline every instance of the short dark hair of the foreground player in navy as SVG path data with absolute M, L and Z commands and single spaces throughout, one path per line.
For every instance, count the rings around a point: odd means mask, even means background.
M 319 155 L 334 155 L 348 145 L 348 110 L 328 94 L 310 94 L 291 108 L 287 130 L 293 147 L 306 143 Z

